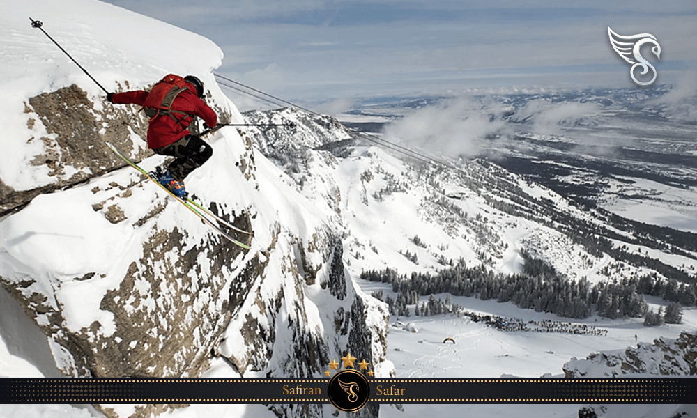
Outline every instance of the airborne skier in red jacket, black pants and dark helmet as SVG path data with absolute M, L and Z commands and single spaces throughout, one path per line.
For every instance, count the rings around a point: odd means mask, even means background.
M 204 84 L 193 75 L 167 75 L 151 91 L 109 93 L 114 104 L 138 104 L 150 116 L 148 148 L 155 154 L 169 155 L 174 161 L 157 180 L 179 198 L 187 196 L 184 178 L 213 155 L 213 148 L 187 129 L 199 116 L 204 127 L 217 125 L 217 115 L 202 100 Z

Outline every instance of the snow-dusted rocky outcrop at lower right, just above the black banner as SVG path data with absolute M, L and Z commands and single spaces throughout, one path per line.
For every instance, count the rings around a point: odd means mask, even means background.
M 636 375 L 694 376 L 697 374 L 697 335 L 683 332 L 677 339 L 660 338 L 636 348 L 593 353 L 564 365 L 566 378 Z

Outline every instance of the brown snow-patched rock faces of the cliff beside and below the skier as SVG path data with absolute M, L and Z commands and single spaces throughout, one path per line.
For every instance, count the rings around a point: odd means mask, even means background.
M 18 251 L 36 253 L 36 258 L 52 256 L 40 254 L 42 248 L 33 248 L 26 239 L 5 240 L 1 283 L 52 339 L 54 355 L 60 357 L 60 368 L 72 376 L 196 376 L 204 366 L 206 340 L 215 341 L 213 337 L 224 330 L 231 314 L 227 300 L 220 297 L 229 280 L 226 277 L 229 272 L 222 266 L 240 256 L 241 249 L 220 240 L 191 245 L 181 226 L 165 228 L 158 222 L 158 217 L 176 203 L 166 199 L 152 199 L 147 205 L 136 202 L 149 185 L 137 183 L 141 179 L 132 176 L 103 180 L 105 173 L 123 167 L 123 162 L 106 148 L 104 141 L 113 141 L 118 148 L 130 150 L 137 160 L 152 155 L 137 133 L 144 132 L 146 121 L 134 110 L 132 107 L 98 109 L 75 85 L 29 98 L 27 129 L 33 134 L 29 142 L 43 143 L 43 153 L 34 155 L 29 164 L 47 170 L 53 182 L 35 189 L 6 191 L 2 196 L 8 210 L 17 210 L 34 200 L 30 208 L 4 220 L 6 237 L 16 231 L 13 226 L 17 225 L 17 219 L 26 223 L 26 233 L 40 235 L 41 224 L 49 218 L 47 213 L 52 211 L 52 206 L 60 212 L 61 206 L 70 206 L 71 201 L 82 201 L 82 196 L 89 195 L 91 217 L 103 219 L 118 229 L 144 232 L 139 237 L 143 240 L 129 243 L 139 247 L 139 255 L 130 262 L 119 260 L 123 265 L 128 263 L 128 267 L 118 274 L 106 271 L 103 265 L 92 265 L 95 271 L 43 269 L 31 263 L 33 257 L 24 258 L 29 263 L 22 265 L 21 256 L 13 257 Z M 69 193 L 77 196 L 69 197 L 61 189 L 70 189 Z M 133 212 L 135 206 L 139 213 Z M 249 215 L 229 215 L 236 224 L 251 226 Z M 55 220 L 72 223 L 68 219 Z M 93 225 L 89 222 L 83 225 L 75 222 L 71 231 L 80 235 L 80 229 L 90 226 Z M 98 231 L 92 232 L 90 238 L 95 241 L 108 240 L 100 238 Z M 90 246 L 91 240 L 85 238 L 76 236 L 71 249 Z M 43 249 L 50 251 L 52 242 L 45 243 L 47 247 Z M 167 261 L 164 254 L 178 256 Z M 64 259 L 59 263 L 70 263 L 76 255 L 75 251 L 63 251 L 59 257 Z M 114 258 L 119 255 L 112 254 Z M 205 277 L 201 277 L 202 260 L 207 264 Z M 253 258 L 245 264 L 253 268 Z M 102 271 L 96 271 L 99 269 Z M 105 282 L 110 286 L 95 307 L 108 312 L 111 320 L 66 327 L 71 321 L 68 317 L 84 314 L 66 314 L 77 309 L 71 305 L 78 302 L 80 291 Z M 75 293 L 75 297 L 63 297 L 66 293 Z M 194 309 L 210 303 L 215 303 L 215 309 Z

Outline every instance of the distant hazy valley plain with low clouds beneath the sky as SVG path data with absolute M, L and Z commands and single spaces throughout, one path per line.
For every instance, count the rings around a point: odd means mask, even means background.
M 367 100 L 339 118 L 427 153 L 487 157 L 590 208 L 667 227 L 663 233 L 695 233 L 696 96 L 690 82 L 470 92 Z

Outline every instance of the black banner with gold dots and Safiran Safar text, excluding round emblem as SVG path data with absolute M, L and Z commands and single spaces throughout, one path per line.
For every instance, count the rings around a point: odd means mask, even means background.
M 3 378 L 0 403 L 330 403 L 329 378 Z M 694 378 L 376 379 L 372 403 L 692 403 Z

